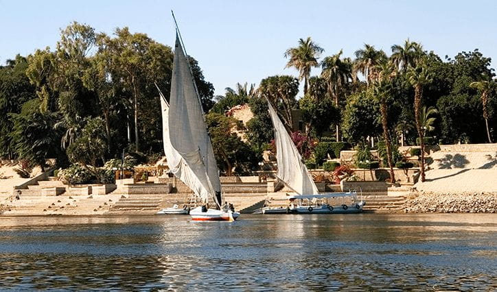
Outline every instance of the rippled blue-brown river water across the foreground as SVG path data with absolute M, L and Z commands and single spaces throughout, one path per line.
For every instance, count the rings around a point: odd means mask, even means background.
M 496 290 L 497 215 L 0 217 L 0 289 Z

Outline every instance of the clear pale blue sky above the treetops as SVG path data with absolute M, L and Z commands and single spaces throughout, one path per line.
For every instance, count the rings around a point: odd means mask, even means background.
M 36 49 L 54 49 L 60 29 L 72 21 L 97 32 L 116 27 L 146 33 L 174 45 L 178 21 L 190 56 L 205 80 L 223 95 L 237 83 L 258 85 L 286 69 L 284 52 L 310 36 L 325 52 L 343 49 L 353 57 L 365 43 L 391 53 L 391 45 L 409 38 L 442 59 L 478 48 L 497 64 L 497 1 L 6 1 L 0 0 L 0 62 Z M 314 69 L 312 75 L 318 75 Z M 301 95 L 301 93 L 300 93 Z

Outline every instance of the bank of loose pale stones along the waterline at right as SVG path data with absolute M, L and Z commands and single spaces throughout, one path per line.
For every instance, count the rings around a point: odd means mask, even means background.
M 417 193 L 404 203 L 406 213 L 496 213 L 497 193 Z

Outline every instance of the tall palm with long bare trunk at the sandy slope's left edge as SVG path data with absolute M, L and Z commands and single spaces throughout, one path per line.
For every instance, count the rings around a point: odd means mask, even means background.
M 424 60 L 419 62 L 415 67 L 409 67 L 407 76 L 409 82 L 414 87 L 414 117 L 419 136 L 419 144 L 421 146 L 421 182 L 424 182 L 424 130 L 421 127 L 421 99 L 423 98 L 423 86 L 432 82 L 432 79 Z

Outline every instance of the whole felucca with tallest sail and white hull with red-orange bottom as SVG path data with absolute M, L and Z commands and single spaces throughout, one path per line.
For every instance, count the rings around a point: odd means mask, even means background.
M 211 139 L 207 132 L 204 112 L 192 70 L 186 58 L 176 26 L 176 44 L 172 69 L 170 107 L 167 116 L 168 138 L 164 147 L 170 147 L 167 164 L 192 189 L 198 206 L 190 210 L 193 220 L 233 221 L 239 212 L 221 210 L 222 193 L 218 166 Z M 164 117 L 165 118 L 165 117 Z M 164 136 L 164 139 L 167 137 Z M 209 202 L 213 208 L 209 208 Z

